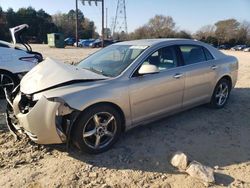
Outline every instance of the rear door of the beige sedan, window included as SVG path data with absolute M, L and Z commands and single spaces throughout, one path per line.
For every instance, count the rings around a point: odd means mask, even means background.
M 210 101 L 216 77 L 213 56 L 198 45 L 180 45 L 179 48 L 186 73 L 183 107 Z

